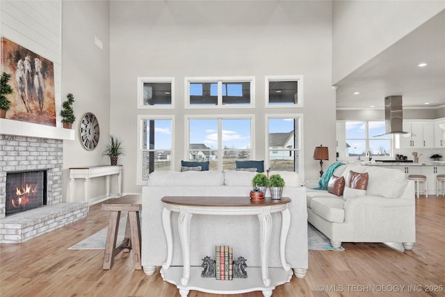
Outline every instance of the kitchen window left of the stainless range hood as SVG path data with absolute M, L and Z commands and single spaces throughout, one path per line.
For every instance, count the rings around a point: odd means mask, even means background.
M 346 156 L 389 156 L 391 138 L 384 121 L 346 122 Z M 380 135 L 380 136 L 379 136 Z

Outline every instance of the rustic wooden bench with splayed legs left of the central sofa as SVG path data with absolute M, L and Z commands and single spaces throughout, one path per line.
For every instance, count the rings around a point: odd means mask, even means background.
M 122 250 L 133 251 L 133 263 L 136 270 L 142 269 L 140 263 L 140 220 L 139 211 L 142 210 L 140 195 L 127 195 L 122 198 L 108 200 L 102 204 L 102 211 L 110 211 L 108 233 L 106 234 L 104 265 L 102 268 L 113 267 L 114 257 Z M 124 241 L 116 247 L 118 239 L 120 214 L 127 211 L 127 226 Z

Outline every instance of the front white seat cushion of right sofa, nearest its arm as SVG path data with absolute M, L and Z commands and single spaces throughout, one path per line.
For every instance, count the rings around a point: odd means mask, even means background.
M 332 223 L 343 223 L 345 220 L 345 200 L 341 198 L 312 198 L 311 209 L 315 214 Z

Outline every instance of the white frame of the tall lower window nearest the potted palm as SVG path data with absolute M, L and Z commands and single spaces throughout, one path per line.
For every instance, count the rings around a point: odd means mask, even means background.
M 143 120 L 171 120 L 172 121 L 172 148 L 170 150 L 170 167 L 175 170 L 175 115 L 138 115 L 138 145 L 136 147 L 136 184 L 143 186 L 147 181 L 143 180 L 142 175 L 142 153 L 143 149 Z

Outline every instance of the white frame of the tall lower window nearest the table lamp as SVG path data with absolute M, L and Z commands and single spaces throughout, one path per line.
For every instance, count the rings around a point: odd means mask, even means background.
M 285 118 L 293 118 L 293 119 L 299 119 L 299 125 L 298 125 L 298 144 L 299 149 L 296 150 L 295 148 L 293 150 L 284 150 L 284 149 L 276 149 L 275 147 L 270 148 L 269 147 L 269 120 L 272 119 L 285 119 Z M 266 141 L 265 141 L 265 160 L 264 160 L 264 168 L 270 168 L 270 152 L 274 151 L 298 151 L 298 175 L 300 175 L 300 180 L 305 180 L 305 150 L 304 145 L 302 144 L 302 140 L 304 139 L 303 131 L 304 129 L 304 116 L 303 113 L 266 113 L 265 114 L 265 125 L 266 125 Z M 294 132 L 295 133 L 295 132 Z M 272 170 L 272 169 L 271 169 Z M 272 170 L 275 171 L 275 170 Z M 296 172 L 296 171 L 293 171 Z

